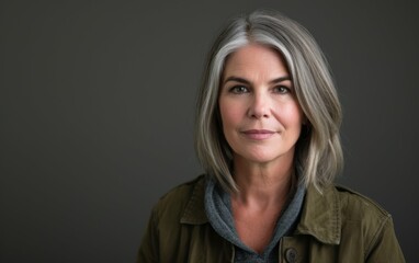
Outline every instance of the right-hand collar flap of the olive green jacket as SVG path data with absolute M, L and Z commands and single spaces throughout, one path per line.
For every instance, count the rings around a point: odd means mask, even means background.
M 314 236 L 324 243 L 340 243 L 340 202 L 333 185 L 322 188 L 322 193 L 308 186 L 302 209 L 296 233 Z

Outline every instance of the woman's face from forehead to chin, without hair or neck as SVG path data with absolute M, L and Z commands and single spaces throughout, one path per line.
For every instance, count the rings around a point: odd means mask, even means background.
M 251 44 L 231 54 L 218 104 L 223 132 L 236 160 L 293 160 L 304 117 L 286 65 L 276 52 Z

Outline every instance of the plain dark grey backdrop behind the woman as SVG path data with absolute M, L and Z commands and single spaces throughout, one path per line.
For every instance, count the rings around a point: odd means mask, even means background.
M 226 20 L 273 8 L 322 47 L 344 110 L 340 183 L 419 262 L 411 1 L 0 1 L 0 261 L 134 262 L 151 206 L 202 172 L 192 126 Z

